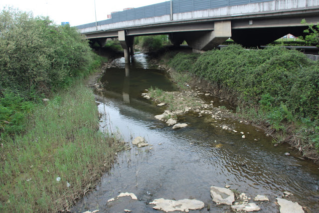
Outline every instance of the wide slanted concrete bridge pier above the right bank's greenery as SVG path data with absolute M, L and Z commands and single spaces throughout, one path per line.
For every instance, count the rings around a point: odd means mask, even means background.
M 215 21 L 213 31 L 190 32 L 186 37 L 193 52 L 203 52 L 217 47 L 231 37 L 231 21 Z

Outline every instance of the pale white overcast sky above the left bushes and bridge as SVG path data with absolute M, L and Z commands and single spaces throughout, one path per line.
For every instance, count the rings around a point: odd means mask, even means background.
M 97 21 L 107 19 L 113 11 L 141 7 L 167 0 L 95 0 Z M 94 0 L 0 0 L 0 10 L 12 6 L 32 11 L 34 16 L 49 16 L 56 24 L 70 22 L 71 26 L 95 22 Z

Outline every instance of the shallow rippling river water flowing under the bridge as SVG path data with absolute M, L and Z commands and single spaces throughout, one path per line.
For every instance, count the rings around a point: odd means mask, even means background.
M 176 91 L 163 71 L 148 62 L 143 53 L 135 54 L 133 63 L 125 67 L 124 58 L 114 61 L 102 77 L 105 91 L 95 91 L 99 104 L 102 131 L 121 132 L 131 150 L 118 153 L 114 168 L 105 174 L 96 189 L 75 204 L 72 212 L 100 210 L 105 213 L 159 212 L 149 203 L 155 199 L 196 199 L 205 203 L 202 210 L 212 213 L 231 212 L 229 206 L 211 201 L 210 186 L 225 187 L 245 193 L 253 199 L 265 195 L 269 202 L 256 202 L 262 213 L 278 213 L 276 197 L 284 191 L 311 212 L 319 212 L 319 166 L 307 160 L 285 156 L 288 146 L 274 147 L 272 138 L 262 130 L 237 120 L 213 120 L 211 116 L 186 114 L 178 117 L 187 123 L 182 129 L 172 129 L 156 120 L 164 107 L 141 96 L 145 89 L 158 87 Z M 209 104 L 211 97 L 206 98 Z M 218 102 L 216 98 L 215 102 Z M 227 125 L 238 132 L 220 128 Z M 242 138 L 244 132 L 246 138 Z M 153 146 L 136 148 L 130 142 L 137 136 Z M 257 139 L 257 141 L 255 140 Z M 152 150 L 150 148 L 152 147 Z M 107 202 L 120 193 L 129 197 Z

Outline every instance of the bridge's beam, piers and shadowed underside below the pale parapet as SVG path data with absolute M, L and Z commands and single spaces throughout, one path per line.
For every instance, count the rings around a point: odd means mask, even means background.
M 319 13 L 303 16 L 309 23 L 317 23 Z M 230 20 L 203 19 L 174 23 L 160 23 L 131 28 L 102 30 L 87 33 L 86 37 L 105 44 L 106 38 L 118 37 L 124 49 L 126 62 L 133 54 L 134 36 L 168 34 L 170 41 L 180 45 L 184 40 L 195 52 L 210 50 L 231 37 L 245 47 L 267 45 L 289 33 L 303 35 L 307 26 L 301 24 L 300 16 L 241 17 Z

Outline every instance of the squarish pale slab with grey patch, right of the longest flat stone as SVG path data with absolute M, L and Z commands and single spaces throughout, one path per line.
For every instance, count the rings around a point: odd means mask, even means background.
M 235 201 L 234 193 L 226 188 L 210 187 L 210 196 L 216 204 L 232 205 Z

